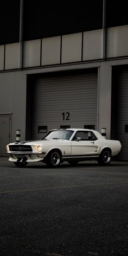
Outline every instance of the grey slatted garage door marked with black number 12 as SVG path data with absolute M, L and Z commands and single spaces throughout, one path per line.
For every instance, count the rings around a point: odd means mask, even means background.
M 32 139 L 50 129 L 97 129 L 97 71 L 40 76 L 33 87 Z

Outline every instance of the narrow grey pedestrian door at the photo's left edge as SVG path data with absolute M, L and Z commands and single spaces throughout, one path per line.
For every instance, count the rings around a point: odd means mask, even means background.
M 0 156 L 7 156 L 6 145 L 10 142 L 10 114 L 0 114 Z

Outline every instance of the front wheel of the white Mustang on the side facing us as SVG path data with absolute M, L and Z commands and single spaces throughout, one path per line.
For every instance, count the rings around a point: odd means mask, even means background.
M 61 153 L 58 150 L 53 150 L 48 153 L 45 162 L 48 167 L 58 167 L 61 163 L 61 158 Z

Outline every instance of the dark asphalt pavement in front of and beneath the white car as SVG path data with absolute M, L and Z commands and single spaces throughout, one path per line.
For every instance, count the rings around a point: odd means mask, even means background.
M 128 162 L 17 168 L 0 158 L 0 255 L 127 256 Z

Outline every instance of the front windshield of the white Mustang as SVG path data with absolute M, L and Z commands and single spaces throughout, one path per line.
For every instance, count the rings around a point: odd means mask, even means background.
M 46 137 L 43 139 L 66 139 L 69 140 L 74 131 L 71 130 L 58 130 L 50 131 Z

